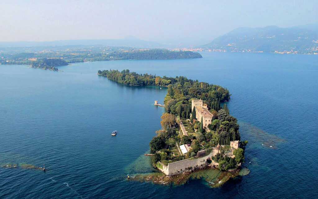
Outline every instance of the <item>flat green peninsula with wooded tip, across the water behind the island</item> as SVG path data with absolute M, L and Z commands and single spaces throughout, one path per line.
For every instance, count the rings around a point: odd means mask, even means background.
M 109 46 L 56 46 L 30 48 L 0 48 L 0 64 L 32 65 L 46 68 L 69 63 L 109 60 L 173 60 L 202 58 L 192 51 L 166 49 L 134 49 Z M 45 62 L 46 65 L 43 63 Z M 43 63 L 43 64 L 41 64 Z M 51 68 L 50 68 L 51 67 Z

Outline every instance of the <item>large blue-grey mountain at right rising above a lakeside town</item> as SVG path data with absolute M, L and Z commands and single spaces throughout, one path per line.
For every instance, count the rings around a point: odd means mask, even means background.
M 305 27 L 242 27 L 201 47 L 227 52 L 318 53 L 318 30 Z

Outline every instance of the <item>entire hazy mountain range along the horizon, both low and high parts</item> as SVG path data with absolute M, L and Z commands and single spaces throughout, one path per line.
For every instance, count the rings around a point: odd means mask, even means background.
M 202 42 L 202 39 L 200 41 Z M 277 26 L 266 26 L 264 28 L 241 27 L 228 32 L 205 45 L 190 44 L 184 41 L 146 41 L 134 36 L 128 36 L 124 39 L 0 42 L 0 47 L 2 48 L 77 45 L 167 49 L 188 48 L 227 52 L 318 53 L 318 23 L 289 28 L 280 28 Z

